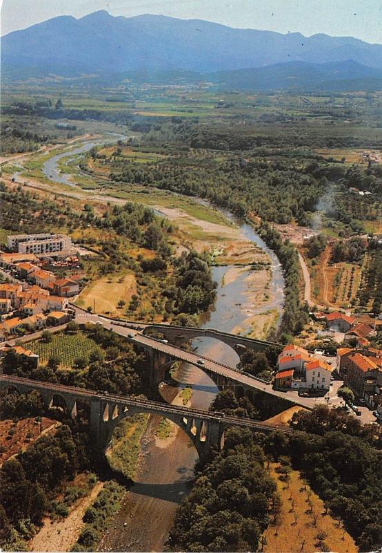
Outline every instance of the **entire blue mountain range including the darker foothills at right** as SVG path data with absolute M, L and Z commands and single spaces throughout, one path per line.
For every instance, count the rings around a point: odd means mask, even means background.
M 55 17 L 1 38 L 3 75 L 140 75 L 181 72 L 226 88 L 379 88 L 382 45 L 353 37 L 234 29 L 161 15 Z M 349 83 L 350 84 L 350 83 Z M 339 85 L 340 86 L 340 85 Z M 346 85 L 345 85 L 346 88 Z

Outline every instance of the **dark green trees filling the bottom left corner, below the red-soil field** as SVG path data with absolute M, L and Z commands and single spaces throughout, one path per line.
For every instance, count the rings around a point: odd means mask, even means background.
M 0 545 L 6 550 L 26 550 L 28 541 L 41 525 L 43 516 L 66 516 L 57 495 L 68 482 L 90 467 L 92 447 L 83 428 L 63 425 L 46 435 L 16 459 L 0 468 Z M 72 496 L 72 494 L 71 494 Z M 70 496 L 67 496 L 70 503 Z M 66 507 L 65 509 L 63 507 Z

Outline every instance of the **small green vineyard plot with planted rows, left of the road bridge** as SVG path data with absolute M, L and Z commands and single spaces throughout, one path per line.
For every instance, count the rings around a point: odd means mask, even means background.
M 74 335 L 60 332 L 52 335 L 51 342 L 46 343 L 42 339 L 32 341 L 28 348 L 40 356 L 41 364 L 46 364 L 50 357 L 58 357 L 63 368 L 71 368 L 74 360 L 79 357 L 88 357 L 93 351 L 102 351 L 101 346 L 83 332 Z

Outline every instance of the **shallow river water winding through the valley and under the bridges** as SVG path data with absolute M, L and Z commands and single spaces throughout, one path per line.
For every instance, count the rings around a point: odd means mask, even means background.
M 50 158 L 44 165 L 44 173 L 55 182 L 73 186 L 70 176 L 59 173 L 57 167 L 59 161 L 64 157 L 85 153 L 94 145 L 101 143 L 98 140 L 87 142 L 70 152 Z M 224 214 L 234 219 L 231 214 L 227 212 Z M 284 281 L 277 256 L 250 225 L 234 222 L 239 225 L 245 238 L 256 243 L 270 256 L 272 299 L 261 308 L 250 305 L 247 281 L 250 272 L 243 270 L 234 281 L 225 283 L 224 275 L 230 267 L 213 267 L 212 275 L 217 282 L 217 299 L 214 307 L 202 317 L 203 328 L 217 328 L 230 332 L 237 326 L 243 327 L 248 314 L 255 315 L 268 309 L 277 309 L 279 315 L 282 312 Z M 194 339 L 192 347 L 197 348 L 201 355 L 212 357 L 232 367 L 239 361 L 237 353 L 232 348 L 214 339 Z M 179 388 L 188 385 L 192 387 L 191 405 L 198 409 L 208 409 L 218 393 L 214 382 L 197 367 L 183 364 L 175 378 L 177 382 L 173 386 L 162 388 L 161 393 L 165 400 L 172 401 Z M 162 551 L 176 509 L 190 491 L 197 452 L 181 429 L 178 429 L 176 435 L 168 440 L 165 447 L 163 444 L 162 447 L 158 447 L 155 440 L 158 424 L 159 418 L 150 418 L 148 430 L 142 439 L 142 456 L 137 481 L 126 494 L 112 527 L 101 541 L 99 546 L 101 551 Z

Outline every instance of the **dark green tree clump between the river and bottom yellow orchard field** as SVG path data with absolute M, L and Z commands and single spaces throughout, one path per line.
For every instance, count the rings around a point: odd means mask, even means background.
M 227 432 L 223 450 L 201 463 L 168 538 L 170 551 L 257 551 L 278 507 L 265 456 L 250 431 Z

